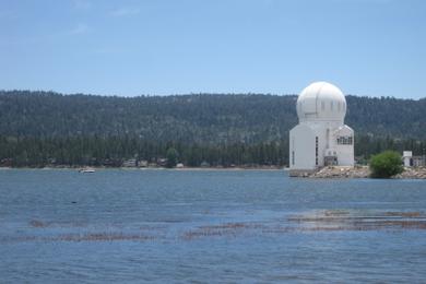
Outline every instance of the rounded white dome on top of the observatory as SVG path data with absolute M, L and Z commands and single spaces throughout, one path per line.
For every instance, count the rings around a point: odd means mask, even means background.
M 315 82 L 305 87 L 297 98 L 299 121 L 343 122 L 345 115 L 345 96 L 333 84 Z

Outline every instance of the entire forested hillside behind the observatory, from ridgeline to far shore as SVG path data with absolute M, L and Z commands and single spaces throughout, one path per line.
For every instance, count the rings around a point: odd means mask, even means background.
M 287 163 L 297 96 L 192 94 L 106 97 L 0 92 L 0 159 L 15 166 L 114 164 L 164 157 L 177 147 L 189 165 Z M 357 155 L 383 149 L 421 154 L 426 98 L 347 96 Z

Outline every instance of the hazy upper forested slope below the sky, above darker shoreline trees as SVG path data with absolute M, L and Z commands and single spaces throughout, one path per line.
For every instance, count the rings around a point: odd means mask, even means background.
M 192 94 L 115 97 L 0 91 L 0 133 L 123 135 L 182 142 L 286 139 L 297 123 L 295 95 Z M 357 133 L 426 139 L 426 98 L 346 96 L 346 123 Z

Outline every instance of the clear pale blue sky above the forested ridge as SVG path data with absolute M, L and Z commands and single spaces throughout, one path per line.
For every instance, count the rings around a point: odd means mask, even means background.
M 423 0 L 0 0 L 0 90 L 426 97 Z

